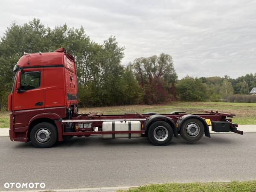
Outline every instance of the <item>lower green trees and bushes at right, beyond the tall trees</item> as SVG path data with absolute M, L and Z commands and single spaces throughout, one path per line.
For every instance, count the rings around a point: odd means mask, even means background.
M 256 87 L 256 73 L 236 79 L 229 76 L 186 76 L 177 82 L 176 87 L 178 99 L 182 101 L 256 102 L 256 95 L 248 95 Z

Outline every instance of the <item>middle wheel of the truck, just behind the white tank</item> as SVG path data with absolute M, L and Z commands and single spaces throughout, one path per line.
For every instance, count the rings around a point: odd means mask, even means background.
M 172 140 L 172 127 L 167 122 L 156 121 L 148 128 L 148 138 L 154 145 L 168 145 Z

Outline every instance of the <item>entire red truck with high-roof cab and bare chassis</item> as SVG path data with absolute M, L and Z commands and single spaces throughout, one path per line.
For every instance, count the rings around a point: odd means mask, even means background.
M 8 97 L 9 135 L 12 141 L 31 141 L 47 148 L 73 136 L 102 135 L 103 138 L 148 137 L 154 145 L 168 145 L 172 137 L 196 142 L 215 132 L 235 132 L 234 114 L 206 111 L 201 114 L 172 112 L 78 113 L 76 64 L 66 49 L 24 53 L 14 67 L 15 80 Z

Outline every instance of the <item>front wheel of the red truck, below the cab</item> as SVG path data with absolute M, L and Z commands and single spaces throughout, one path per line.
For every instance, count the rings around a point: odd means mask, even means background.
M 54 125 L 41 122 L 30 131 L 30 140 L 37 148 L 48 148 L 56 143 L 57 135 L 57 129 Z

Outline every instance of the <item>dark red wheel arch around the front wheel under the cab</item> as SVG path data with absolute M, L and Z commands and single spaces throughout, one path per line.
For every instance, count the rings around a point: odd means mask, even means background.
M 59 116 L 56 113 L 41 113 L 38 115 L 33 116 L 28 123 L 29 126 L 29 130 L 28 130 L 28 137 L 30 134 L 30 131 L 32 130 L 32 128 L 37 125 L 38 123 L 41 122 L 48 122 L 51 123 L 52 125 L 54 125 L 57 128 L 57 132 L 58 132 L 58 140 L 62 141 L 63 137 L 62 137 L 62 125 L 61 125 L 61 116 Z

